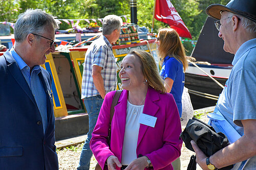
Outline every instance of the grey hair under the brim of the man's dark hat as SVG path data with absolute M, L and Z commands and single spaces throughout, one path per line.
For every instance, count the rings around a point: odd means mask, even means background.
M 225 11 L 225 12 L 228 12 L 228 11 Z M 231 21 L 231 18 L 232 16 L 237 16 L 238 18 L 241 19 L 241 22 L 242 22 L 242 26 L 243 28 L 248 32 L 248 33 L 255 33 L 256 32 L 256 22 L 244 17 L 244 16 L 241 16 L 241 15 L 238 15 L 238 14 L 234 14 L 232 12 L 228 12 L 227 14 L 227 17 L 230 17 L 228 20 L 227 20 L 227 23 L 229 23 Z

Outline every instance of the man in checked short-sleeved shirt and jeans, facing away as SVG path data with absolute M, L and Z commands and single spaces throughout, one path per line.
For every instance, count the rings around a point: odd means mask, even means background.
M 89 115 L 89 132 L 84 142 L 77 169 L 89 170 L 92 151 L 89 143 L 100 107 L 107 92 L 116 89 L 116 62 L 112 43 L 119 38 L 122 19 L 116 15 L 105 16 L 102 35 L 89 46 L 84 58 L 81 99 Z

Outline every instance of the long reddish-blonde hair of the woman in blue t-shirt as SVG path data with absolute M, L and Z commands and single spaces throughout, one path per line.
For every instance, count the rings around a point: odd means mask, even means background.
M 164 28 L 159 30 L 158 38 L 160 45 L 158 48 L 158 54 L 160 56 L 161 63 L 166 56 L 174 57 L 183 64 L 184 71 L 187 69 L 187 59 L 185 49 L 180 40 L 179 34 L 172 28 Z

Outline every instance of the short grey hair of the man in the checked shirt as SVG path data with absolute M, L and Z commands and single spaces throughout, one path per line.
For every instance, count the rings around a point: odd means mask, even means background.
M 110 35 L 114 30 L 119 30 L 122 26 L 122 18 L 116 15 L 107 15 L 103 18 L 102 34 Z

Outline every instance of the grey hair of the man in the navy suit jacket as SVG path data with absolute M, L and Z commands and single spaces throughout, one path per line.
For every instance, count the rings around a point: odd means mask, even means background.
M 49 28 L 58 29 L 58 23 L 55 17 L 47 14 L 41 9 L 27 9 L 18 16 L 14 26 L 14 38 L 17 42 L 22 42 L 28 34 L 42 34 Z

